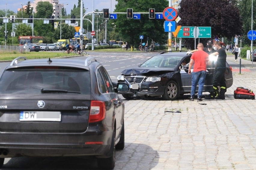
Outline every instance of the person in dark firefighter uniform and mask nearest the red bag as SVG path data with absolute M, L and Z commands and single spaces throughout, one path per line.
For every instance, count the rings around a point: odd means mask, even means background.
M 217 48 L 217 51 L 212 53 L 212 55 L 218 55 L 218 59 L 213 72 L 213 92 L 206 96 L 205 99 L 225 99 L 225 92 L 227 90 L 225 82 L 227 54 L 225 49 L 221 48 L 219 41 L 215 41 L 214 46 Z M 221 88 L 220 95 L 218 95 L 218 86 Z

